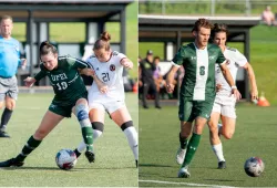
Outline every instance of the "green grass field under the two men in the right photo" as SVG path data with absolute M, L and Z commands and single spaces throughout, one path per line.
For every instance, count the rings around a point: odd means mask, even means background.
M 178 148 L 179 123 L 177 107 L 165 106 L 162 111 L 140 108 L 140 180 L 192 182 L 204 185 L 270 187 L 276 179 L 277 107 L 239 105 L 236 133 L 230 140 L 223 139 L 227 168 L 216 169 L 217 159 L 204 129 L 199 147 L 191 164 L 189 179 L 177 178 L 179 166 L 175 161 Z M 265 163 L 261 177 L 252 178 L 244 171 L 244 163 L 252 156 Z M 187 186 L 140 182 L 140 186 Z

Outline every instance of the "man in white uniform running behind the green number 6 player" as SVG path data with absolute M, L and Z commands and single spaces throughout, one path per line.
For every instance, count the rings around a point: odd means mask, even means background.
M 252 86 L 252 100 L 256 100 L 258 96 L 258 91 L 253 67 L 248 63 L 247 59 L 238 50 L 226 46 L 227 33 L 228 30 L 226 24 L 216 23 L 213 30 L 213 42 L 222 49 L 225 59 L 228 60 L 227 66 L 234 80 L 236 80 L 236 74 L 239 67 L 243 67 L 247 71 Z M 226 161 L 223 155 L 223 146 L 219 135 L 223 135 L 226 139 L 230 139 L 235 133 L 236 98 L 230 95 L 232 88 L 225 81 L 219 66 L 216 65 L 215 69 L 218 91 L 216 93 L 208 126 L 211 145 L 218 159 L 218 169 L 223 169 L 226 168 Z M 222 124 L 218 124 L 219 118 L 222 119 Z

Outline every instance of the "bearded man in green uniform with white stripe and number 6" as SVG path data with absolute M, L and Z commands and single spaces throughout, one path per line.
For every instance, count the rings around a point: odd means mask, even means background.
M 224 77 L 232 86 L 232 93 L 239 98 L 234 80 L 226 66 L 226 60 L 220 49 L 215 44 L 208 44 L 213 24 L 206 19 L 198 19 L 192 30 L 195 41 L 181 46 L 175 54 L 173 66 L 167 75 L 167 92 L 174 90 L 173 79 L 181 65 L 185 69 L 185 76 L 179 91 L 178 117 L 181 121 L 177 163 L 182 164 L 178 177 L 188 178 L 188 165 L 198 147 L 204 125 L 209 118 L 215 100 L 215 64 L 219 64 Z M 194 124 L 194 129 L 192 123 Z M 193 135 L 188 140 L 193 129 Z

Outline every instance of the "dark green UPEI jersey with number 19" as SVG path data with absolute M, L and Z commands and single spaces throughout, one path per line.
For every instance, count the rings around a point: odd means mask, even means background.
M 81 60 L 71 56 L 59 56 L 57 69 L 49 71 L 41 63 L 41 71 L 34 79 L 39 81 L 48 76 L 55 93 L 52 103 L 60 106 L 68 106 L 75 103 L 80 96 L 86 93 L 85 85 L 78 71 L 78 69 L 85 67 L 90 67 L 90 65 Z

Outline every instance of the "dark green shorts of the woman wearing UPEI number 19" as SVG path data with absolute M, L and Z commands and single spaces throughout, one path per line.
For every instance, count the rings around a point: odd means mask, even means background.
M 68 105 L 60 105 L 62 102 L 53 100 L 48 109 L 63 117 L 71 117 L 72 108 L 75 106 L 76 101 L 80 98 L 88 100 L 88 93 L 84 93 L 83 96 L 81 95 L 76 97 L 74 101 L 72 101 L 71 104 Z

